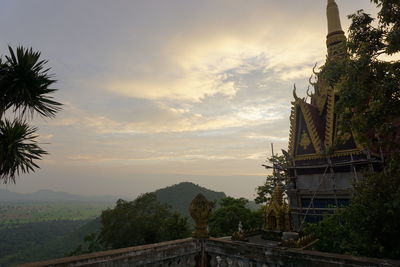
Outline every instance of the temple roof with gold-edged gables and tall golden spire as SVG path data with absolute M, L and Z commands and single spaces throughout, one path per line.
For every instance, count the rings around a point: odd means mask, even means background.
M 347 56 L 346 36 L 341 27 L 339 8 L 334 0 L 328 0 L 327 9 L 328 35 L 327 60 L 335 62 Z M 310 84 L 314 93 L 311 98 L 299 98 L 296 87 L 293 91 L 295 101 L 292 102 L 290 115 L 289 154 L 295 160 L 314 159 L 319 157 L 343 156 L 359 154 L 362 149 L 357 144 L 352 132 L 340 131 L 335 114 L 335 102 L 339 95 L 335 88 L 313 70 L 316 82 Z

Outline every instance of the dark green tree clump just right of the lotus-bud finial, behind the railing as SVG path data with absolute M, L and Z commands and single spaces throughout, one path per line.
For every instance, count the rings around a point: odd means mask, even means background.
M 221 199 L 218 208 L 210 216 L 210 234 L 214 237 L 229 236 L 238 230 L 239 222 L 243 229 L 259 228 L 262 225 L 262 213 L 252 212 L 246 207 L 248 203 L 244 198 L 226 197 Z

